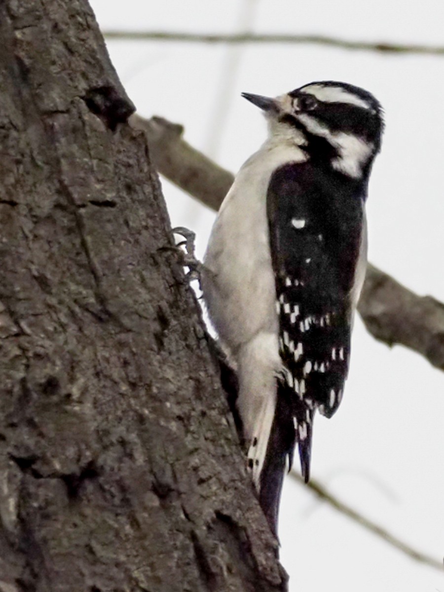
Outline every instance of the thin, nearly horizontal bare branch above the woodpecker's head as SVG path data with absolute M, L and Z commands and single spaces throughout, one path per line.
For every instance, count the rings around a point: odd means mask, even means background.
M 324 45 L 340 49 L 363 50 L 379 53 L 415 53 L 440 56 L 444 54 L 443 46 L 417 45 L 404 43 L 385 43 L 372 41 L 350 41 L 323 35 L 291 35 L 291 34 L 205 34 L 205 33 L 172 33 L 166 31 L 104 31 L 107 39 L 130 41 L 182 41 L 186 43 L 292 43 L 304 45 Z

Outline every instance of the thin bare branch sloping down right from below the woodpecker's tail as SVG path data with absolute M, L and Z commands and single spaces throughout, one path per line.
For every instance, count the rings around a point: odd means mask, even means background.
M 297 472 L 291 471 L 290 475 L 295 481 L 304 487 L 308 487 L 311 493 L 315 494 L 318 498 L 320 498 L 320 500 L 326 501 L 327 504 L 332 506 L 335 510 L 339 511 L 341 514 L 344 514 L 344 516 L 347 516 L 353 520 L 353 522 L 357 522 L 363 528 L 370 530 L 372 533 L 374 533 L 374 535 L 377 535 L 379 538 L 385 540 L 386 543 L 392 547 L 395 547 L 404 553 L 404 555 L 407 555 L 410 559 L 414 559 L 414 561 L 429 565 L 429 567 L 433 567 L 436 570 L 443 571 L 442 561 L 437 561 L 437 559 L 433 559 L 433 557 L 430 557 L 421 551 L 417 551 L 417 549 L 414 549 L 407 543 L 404 543 L 401 539 L 398 539 L 396 536 L 392 535 L 382 526 L 379 526 L 375 522 L 372 522 L 372 520 L 362 516 L 362 514 L 359 514 L 359 512 L 353 510 L 350 508 L 350 506 L 343 503 L 343 501 L 340 501 L 337 499 L 337 497 L 334 497 L 327 490 L 327 488 L 324 487 L 324 485 L 320 484 L 320 482 L 311 478 L 310 481 L 305 484 L 303 478 L 298 475 Z

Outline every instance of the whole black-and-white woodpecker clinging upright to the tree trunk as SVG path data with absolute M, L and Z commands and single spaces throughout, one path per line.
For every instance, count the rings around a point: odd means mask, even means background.
M 202 289 L 238 373 L 247 463 L 276 533 L 287 459 L 297 443 L 307 482 L 314 413 L 331 417 L 342 400 L 383 122 L 374 96 L 342 82 L 243 96 L 269 136 L 221 205 Z

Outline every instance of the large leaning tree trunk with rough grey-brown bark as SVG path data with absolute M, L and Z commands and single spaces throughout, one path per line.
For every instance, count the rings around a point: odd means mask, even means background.
M 0 592 L 283 591 L 84 0 L 0 0 Z

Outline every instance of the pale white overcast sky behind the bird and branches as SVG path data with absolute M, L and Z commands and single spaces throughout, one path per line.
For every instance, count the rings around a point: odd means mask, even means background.
M 103 30 L 325 34 L 444 45 L 442 0 L 92 0 Z M 350 82 L 385 109 L 371 178 L 369 258 L 420 294 L 444 301 L 444 56 L 384 56 L 331 47 L 229 47 L 109 41 L 141 115 L 185 126 L 185 139 L 233 172 L 265 139 L 240 92 L 278 95 L 316 80 Z M 214 214 L 162 181 L 173 226 L 197 231 L 202 256 Z M 444 374 L 355 323 L 345 398 L 317 417 L 312 474 L 395 535 L 444 555 Z M 295 461 L 297 465 L 297 461 Z M 298 466 L 297 466 L 298 468 Z M 404 557 L 287 479 L 281 561 L 290 590 L 444 592 L 440 574 Z

